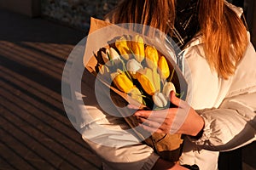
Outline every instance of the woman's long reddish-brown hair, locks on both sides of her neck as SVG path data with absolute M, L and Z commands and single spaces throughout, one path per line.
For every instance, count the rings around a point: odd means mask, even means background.
M 107 17 L 116 24 L 138 23 L 172 35 L 175 0 L 124 0 Z M 199 0 L 198 20 L 207 61 L 219 77 L 227 79 L 247 47 L 247 28 L 224 0 Z

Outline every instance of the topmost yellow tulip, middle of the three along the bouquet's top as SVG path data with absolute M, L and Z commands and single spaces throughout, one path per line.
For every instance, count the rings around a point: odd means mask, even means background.
M 141 63 L 145 58 L 145 48 L 144 48 L 143 37 L 136 35 L 135 37 L 133 37 L 130 44 L 131 44 L 131 51 L 135 55 L 134 56 L 135 59 L 137 59 L 137 61 Z

